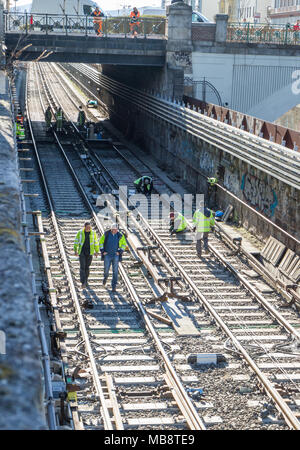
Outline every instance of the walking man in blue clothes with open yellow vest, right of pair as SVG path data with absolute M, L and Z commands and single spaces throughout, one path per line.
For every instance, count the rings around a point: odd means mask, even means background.
M 126 245 L 126 239 L 120 233 L 118 224 L 116 223 L 112 224 L 111 229 L 106 231 L 100 238 L 101 258 L 104 260 L 103 285 L 106 285 L 109 269 L 112 265 L 113 276 L 111 287 L 113 292 L 116 292 L 119 262 L 122 261 L 122 255 L 126 249 Z

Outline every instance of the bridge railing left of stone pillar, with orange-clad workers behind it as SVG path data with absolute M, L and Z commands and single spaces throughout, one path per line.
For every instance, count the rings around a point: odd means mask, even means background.
M 84 34 L 95 35 L 92 16 L 63 15 L 63 14 L 30 14 L 30 13 L 5 13 L 6 33 L 45 33 L 45 34 Z M 101 31 L 103 36 L 129 37 L 132 34 L 130 17 L 101 17 Z M 145 38 L 165 37 L 165 18 L 139 18 L 136 24 L 139 36 Z

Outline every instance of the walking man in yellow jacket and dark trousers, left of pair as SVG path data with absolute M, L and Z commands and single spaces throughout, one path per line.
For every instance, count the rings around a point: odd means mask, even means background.
M 83 230 L 78 231 L 74 242 L 75 255 L 79 255 L 80 282 L 82 289 L 86 288 L 90 265 L 93 256 L 99 254 L 99 241 L 95 231 L 92 231 L 90 222 L 84 224 Z

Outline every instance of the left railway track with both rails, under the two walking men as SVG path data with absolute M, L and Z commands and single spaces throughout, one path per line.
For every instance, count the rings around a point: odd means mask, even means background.
M 35 80 L 38 86 L 37 77 Z M 45 83 L 45 80 L 43 82 Z M 29 86 L 30 83 L 33 81 L 30 80 Z M 41 86 L 39 89 L 41 91 Z M 39 94 L 41 104 L 44 104 L 46 99 L 41 98 L 41 92 Z M 51 102 L 49 94 L 48 91 L 46 97 L 48 102 Z M 36 112 L 37 106 L 35 104 Z M 39 110 L 41 115 L 41 106 Z M 34 136 L 34 128 L 32 131 Z M 60 293 L 58 298 L 62 308 L 59 314 L 60 322 L 64 332 L 67 333 L 64 343 L 66 352 L 68 354 L 75 352 L 76 355 L 68 359 L 68 373 L 74 374 L 80 367 L 81 374 L 85 374 L 85 377 L 81 376 L 83 389 L 77 393 L 77 411 L 80 413 L 77 423 L 86 429 L 95 427 L 113 429 L 114 426 L 122 429 L 123 422 L 128 428 L 138 429 L 143 427 L 151 429 L 153 426 L 156 429 L 166 426 L 175 429 L 178 427 L 205 429 L 163 349 L 161 341 L 165 339 L 170 349 L 173 339 L 168 335 L 165 338 L 159 337 L 147 314 L 144 312 L 144 320 L 137 314 L 137 310 L 143 312 L 142 304 L 138 306 L 139 298 L 155 295 L 155 289 L 151 285 L 145 286 L 145 283 L 141 285 L 140 280 L 133 283 L 126 275 L 128 269 L 121 268 L 122 284 L 119 293 L 117 295 L 108 293 L 104 287 L 99 287 L 101 278 L 97 274 L 103 269 L 102 263 L 94 261 L 88 292 L 82 293 L 79 290 L 79 280 L 76 276 L 78 262 L 77 258 L 72 256 L 75 233 L 82 228 L 86 220 L 91 219 L 91 216 L 95 227 L 99 227 L 98 231 L 103 232 L 103 229 L 84 190 L 80 190 L 80 185 L 88 185 L 90 180 L 84 179 L 84 170 L 81 170 L 81 181 L 80 183 L 76 181 L 75 172 L 70 165 L 66 166 L 73 150 L 63 149 L 61 144 L 58 145 L 60 151 L 57 145 L 47 145 L 46 148 L 39 146 L 36 150 L 51 211 L 51 219 L 44 220 L 43 226 L 48 230 L 45 241 L 50 255 L 51 272 L 55 277 L 54 286 Z M 86 177 L 87 174 L 86 170 Z M 60 190 L 62 179 L 63 188 Z M 58 251 L 62 261 L 55 257 Z M 127 264 L 132 265 L 134 262 L 131 257 L 128 262 L 124 261 L 123 265 L 126 267 Z M 142 276 L 142 273 L 139 276 Z M 88 308 L 93 306 L 92 314 L 82 311 L 83 299 L 88 303 Z M 131 302 L 135 302 L 134 305 Z M 78 317 L 78 323 L 74 323 L 75 315 Z M 117 323 L 117 326 L 114 326 L 114 323 Z M 146 325 L 150 332 L 147 331 Z M 85 360 L 87 356 L 88 363 Z M 123 406 L 122 418 L 117 402 L 112 398 L 115 387 L 111 373 L 114 375 L 114 382 L 123 387 L 122 389 L 119 387 L 119 390 L 122 390 L 119 395 L 128 397 L 128 402 Z M 134 389 L 137 389 L 137 392 L 133 392 Z M 110 394 L 109 400 L 104 399 L 106 391 Z M 139 405 L 130 402 L 131 398 L 137 397 L 145 397 L 148 400 L 149 392 L 152 393 L 151 400 L 155 399 L 157 392 L 162 401 L 151 403 L 148 401 L 147 404 Z M 170 397 L 174 398 L 173 402 L 170 401 Z M 91 400 L 88 403 L 88 399 L 92 398 L 96 404 L 91 403 Z M 108 401 L 109 407 L 105 406 Z M 109 411 L 105 411 L 111 408 L 116 410 L 113 418 Z M 157 411 L 159 417 L 155 415 Z

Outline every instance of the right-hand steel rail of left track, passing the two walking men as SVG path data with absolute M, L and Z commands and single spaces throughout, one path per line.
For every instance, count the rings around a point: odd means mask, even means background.
M 98 231 L 103 233 L 104 229 L 103 229 L 103 227 L 101 225 L 101 222 L 99 221 L 99 218 L 97 217 L 97 214 L 96 214 L 92 204 L 90 203 L 90 201 L 89 201 L 89 199 L 88 199 L 88 197 L 87 197 L 87 195 L 86 195 L 86 193 L 84 191 L 84 188 L 83 188 L 83 186 L 80 183 L 80 180 L 78 179 L 78 177 L 77 177 L 77 175 L 76 175 L 76 173 L 75 173 L 75 171 L 74 171 L 74 169 L 73 169 L 73 167 L 72 167 L 72 165 L 71 165 L 71 163 L 70 163 L 70 161 L 69 161 L 69 159 L 68 159 L 68 157 L 67 157 L 67 155 L 66 155 L 66 153 L 65 153 L 65 151 L 64 151 L 64 149 L 62 147 L 62 145 L 61 145 L 61 143 L 59 141 L 57 143 L 58 143 L 58 146 L 59 146 L 59 148 L 61 150 L 61 153 L 63 154 L 64 159 L 65 159 L 65 161 L 66 161 L 66 163 L 67 163 L 67 165 L 69 167 L 69 170 L 72 173 L 72 175 L 74 177 L 74 180 L 76 181 L 76 184 L 77 184 L 77 186 L 78 186 L 78 188 L 79 188 L 79 190 L 81 192 L 81 195 L 85 199 L 85 202 L 86 202 L 86 204 L 88 205 L 88 207 L 90 209 L 90 212 L 91 212 L 91 214 L 92 214 L 92 216 L 94 218 L 94 221 L 95 221 L 95 223 L 97 225 Z M 97 181 L 95 179 L 94 179 L 94 181 L 97 183 Z M 172 363 L 171 363 L 171 361 L 170 361 L 166 351 L 164 350 L 164 348 L 163 348 L 163 346 L 162 346 L 162 344 L 160 342 L 160 339 L 159 339 L 159 337 L 157 335 L 157 332 L 155 331 L 153 325 L 151 324 L 150 318 L 148 317 L 147 312 L 144 309 L 143 304 L 141 303 L 141 301 L 140 301 L 140 299 L 139 299 L 139 297 L 138 297 L 138 295 L 137 295 L 137 293 L 135 291 L 135 288 L 133 287 L 131 281 L 129 280 L 129 278 L 128 278 L 127 274 L 126 274 L 125 268 L 123 267 L 122 263 L 119 264 L 119 269 L 120 269 L 120 273 L 121 273 L 122 279 L 123 279 L 123 281 L 124 281 L 128 291 L 130 292 L 130 295 L 131 295 L 134 303 L 136 304 L 138 310 L 141 312 L 142 318 L 143 318 L 143 320 L 144 320 L 144 322 L 145 322 L 149 332 L 151 333 L 151 335 L 152 335 L 152 337 L 153 337 L 153 339 L 154 339 L 154 341 L 155 341 L 155 343 L 157 345 L 157 348 L 158 348 L 160 354 L 162 355 L 162 358 L 164 360 L 164 365 L 166 367 L 167 373 L 170 374 L 170 378 L 171 378 L 171 381 L 173 383 L 173 386 L 174 386 L 174 388 L 176 388 L 180 392 L 181 405 L 178 405 L 179 409 L 183 412 L 183 414 L 187 418 L 187 420 L 189 422 L 189 426 L 191 427 L 191 429 L 194 429 L 194 430 L 205 430 L 206 427 L 205 427 L 202 419 L 198 415 L 195 407 L 193 406 L 189 396 L 187 395 L 187 393 L 186 393 L 186 391 L 185 391 L 181 381 L 179 380 L 178 375 L 176 374 L 176 371 L 173 368 Z

